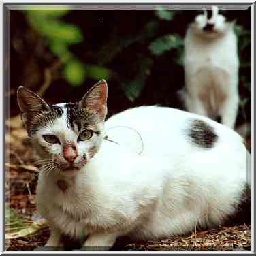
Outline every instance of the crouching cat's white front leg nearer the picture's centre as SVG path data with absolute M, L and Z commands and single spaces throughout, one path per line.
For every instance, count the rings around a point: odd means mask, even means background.
M 99 247 L 102 247 L 102 249 L 110 249 L 114 242 L 116 242 L 116 238 L 118 237 L 118 234 L 91 234 L 82 247 L 89 247 L 88 249 L 94 247 L 94 249 L 100 249 Z

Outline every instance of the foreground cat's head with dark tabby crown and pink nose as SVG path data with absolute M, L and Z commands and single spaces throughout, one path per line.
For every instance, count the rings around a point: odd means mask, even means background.
M 18 88 L 22 122 L 46 170 L 73 175 L 97 153 L 103 140 L 107 90 L 101 80 L 77 103 L 48 105 L 25 87 Z

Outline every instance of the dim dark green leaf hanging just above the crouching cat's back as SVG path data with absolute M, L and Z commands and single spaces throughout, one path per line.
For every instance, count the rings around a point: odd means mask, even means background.
M 131 101 L 135 101 L 144 89 L 147 76 L 150 74 L 150 67 L 153 65 L 153 61 L 149 58 L 142 59 L 140 63 L 140 70 L 134 80 L 127 83 L 121 83 L 121 89 L 123 89 L 126 97 Z

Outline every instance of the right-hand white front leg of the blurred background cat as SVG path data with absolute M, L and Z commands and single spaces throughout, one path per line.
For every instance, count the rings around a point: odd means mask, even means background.
M 236 116 L 238 114 L 238 95 L 230 95 L 221 107 L 221 123 L 234 129 L 236 123 Z

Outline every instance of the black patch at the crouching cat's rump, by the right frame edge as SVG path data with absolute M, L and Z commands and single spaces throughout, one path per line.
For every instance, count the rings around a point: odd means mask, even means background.
M 225 225 L 251 224 L 251 189 L 246 183 L 240 195 L 240 203 L 234 206 L 236 211 L 227 217 Z

